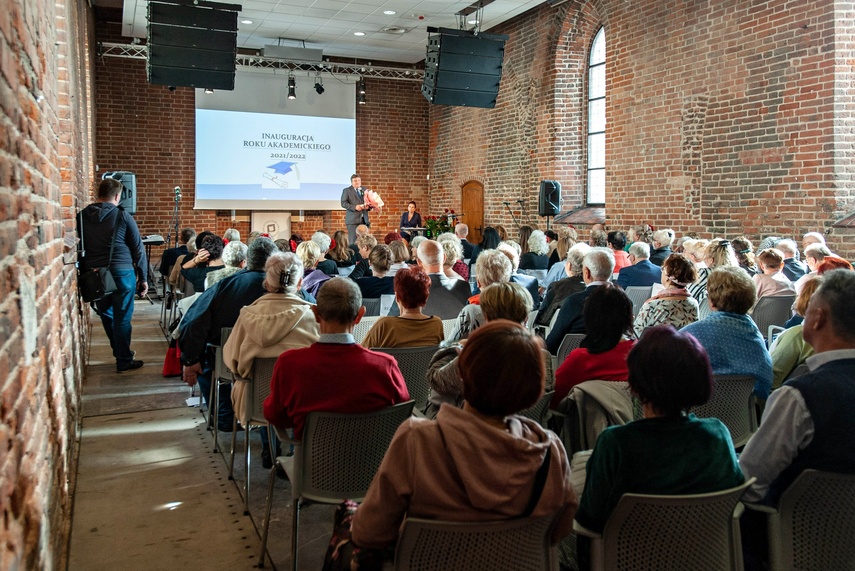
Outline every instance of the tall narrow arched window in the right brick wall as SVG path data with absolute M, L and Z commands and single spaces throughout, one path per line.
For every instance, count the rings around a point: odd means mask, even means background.
M 588 204 L 606 202 L 606 34 L 600 28 L 588 58 Z

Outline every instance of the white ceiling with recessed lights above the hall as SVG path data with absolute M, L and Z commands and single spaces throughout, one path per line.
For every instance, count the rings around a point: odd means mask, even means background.
M 321 48 L 325 56 L 416 63 L 424 59 L 427 27 L 457 28 L 455 14 L 474 0 L 243 0 L 238 47 L 279 44 Z M 482 30 L 544 0 L 494 0 L 483 9 Z M 123 0 L 122 33 L 145 38 L 147 0 Z M 394 11 L 395 14 L 384 14 Z M 471 20 L 475 14 L 469 16 Z M 244 24 L 242 21 L 252 21 Z M 390 33 L 384 28 L 402 28 Z M 467 28 L 472 28 L 468 25 Z M 356 36 L 362 32 L 364 36 Z M 282 38 L 280 42 L 279 38 Z

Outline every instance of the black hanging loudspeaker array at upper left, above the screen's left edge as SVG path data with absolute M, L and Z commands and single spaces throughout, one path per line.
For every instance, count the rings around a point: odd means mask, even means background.
M 149 2 L 148 82 L 234 89 L 240 9 L 204 1 Z

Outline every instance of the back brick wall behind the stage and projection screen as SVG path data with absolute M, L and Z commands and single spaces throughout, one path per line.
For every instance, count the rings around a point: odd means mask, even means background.
M 98 39 L 127 42 L 118 35 L 116 12 L 99 12 Z M 193 210 L 195 184 L 194 92 L 180 87 L 148 85 L 144 60 L 101 58 L 95 65 L 97 107 L 96 164 L 99 175 L 127 170 L 137 176 L 137 214 L 143 234 L 166 237 L 172 217 L 173 188 L 181 186 L 181 226 L 226 228 L 249 235 L 249 212 Z M 421 84 L 367 79 L 367 104 L 356 110 L 356 167 L 363 184 L 388 205 L 372 215 L 372 231 L 383 235 L 397 227 L 406 203 L 427 203 L 428 104 Z M 350 181 L 342 181 L 342 188 Z M 292 231 L 308 238 L 315 230 L 344 228 L 344 211 L 307 211 L 303 221 L 292 213 Z M 152 258 L 162 251 L 154 248 Z

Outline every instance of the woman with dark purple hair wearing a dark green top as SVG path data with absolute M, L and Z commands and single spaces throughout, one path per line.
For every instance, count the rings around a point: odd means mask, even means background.
M 688 414 L 712 395 L 700 343 L 670 325 L 654 327 L 629 352 L 627 364 L 644 418 L 606 428 L 588 460 L 576 521 L 598 533 L 624 494 L 704 494 L 744 481 L 727 427 Z

